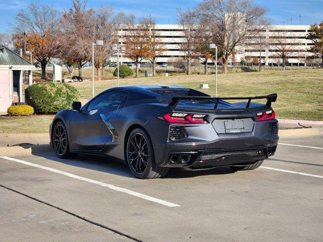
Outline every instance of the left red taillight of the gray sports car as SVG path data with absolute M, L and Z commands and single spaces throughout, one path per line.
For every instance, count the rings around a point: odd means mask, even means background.
M 158 118 L 171 124 L 207 124 L 207 120 L 204 119 L 206 116 L 205 114 L 170 112 Z

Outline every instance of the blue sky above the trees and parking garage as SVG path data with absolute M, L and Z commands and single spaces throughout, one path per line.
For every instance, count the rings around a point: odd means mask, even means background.
M 10 33 L 10 24 L 20 9 L 30 3 L 46 3 L 62 11 L 71 7 L 72 0 L 0 0 L 0 33 Z M 198 0 L 88 0 L 88 7 L 112 6 L 116 12 L 133 13 L 137 18 L 151 15 L 157 24 L 176 24 L 177 8 L 191 8 Z M 323 0 L 254 0 L 267 9 L 267 17 L 273 24 L 309 25 L 323 21 Z

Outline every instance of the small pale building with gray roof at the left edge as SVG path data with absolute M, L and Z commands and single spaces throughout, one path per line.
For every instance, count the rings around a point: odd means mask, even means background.
M 7 112 L 13 103 L 25 102 L 23 79 L 26 85 L 31 85 L 34 68 L 26 59 L 0 45 L 0 112 Z

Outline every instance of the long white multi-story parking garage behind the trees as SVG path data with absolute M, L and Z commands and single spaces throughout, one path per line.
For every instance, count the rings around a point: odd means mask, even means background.
M 266 41 L 267 46 L 262 49 L 261 53 L 261 63 L 262 65 L 273 65 L 277 63 L 282 63 L 282 60 L 277 58 L 277 39 L 284 37 L 284 39 L 290 43 L 291 47 L 289 48 L 290 54 L 288 57 L 288 63 L 291 65 L 304 65 L 306 55 L 309 55 L 308 50 L 313 44 L 310 40 L 307 40 L 305 37 L 309 32 L 309 25 L 272 25 L 268 27 L 263 33 L 260 33 Z M 157 59 L 157 63 L 167 63 L 170 58 L 174 57 L 183 57 L 184 53 L 180 51 L 180 44 L 185 42 L 184 31 L 181 25 L 165 25 L 165 24 L 157 24 L 156 30 L 159 33 L 160 40 L 165 43 L 165 47 L 167 51 L 163 53 Z M 125 34 L 125 31 L 120 31 L 120 44 L 122 42 L 122 36 Z M 237 54 L 232 56 L 231 62 L 238 65 L 240 63 L 241 58 L 253 58 L 259 57 L 260 51 L 259 48 L 255 48 L 255 46 L 249 45 L 247 43 L 245 46 L 238 46 L 239 50 Z M 291 51 L 294 50 L 294 51 Z M 276 56 L 275 56 L 276 55 Z M 117 61 L 117 57 L 113 56 L 111 58 L 112 62 Z M 121 62 L 131 62 L 130 59 L 125 57 L 120 58 Z M 146 62 L 144 60 L 143 62 Z M 210 60 L 212 62 L 212 60 Z

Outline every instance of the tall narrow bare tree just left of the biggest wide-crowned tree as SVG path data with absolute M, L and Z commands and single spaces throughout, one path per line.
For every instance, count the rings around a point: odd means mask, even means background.
M 195 16 L 195 12 L 189 9 L 187 9 L 186 12 L 178 9 L 178 14 L 179 25 L 181 25 L 184 32 L 184 42 L 180 44 L 180 50 L 184 53 L 184 57 L 187 60 L 186 74 L 191 75 L 191 61 L 195 44 L 194 35 L 197 18 Z

